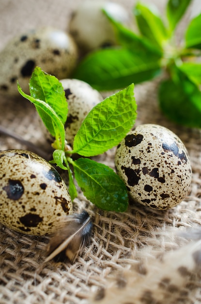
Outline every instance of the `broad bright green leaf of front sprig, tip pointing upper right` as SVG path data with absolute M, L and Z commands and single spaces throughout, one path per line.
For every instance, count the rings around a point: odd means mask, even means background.
M 134 84 L 99 102 L 82 122 L 73 152 L 94 156 L 116 146 L 133 127 L 136 109 Z

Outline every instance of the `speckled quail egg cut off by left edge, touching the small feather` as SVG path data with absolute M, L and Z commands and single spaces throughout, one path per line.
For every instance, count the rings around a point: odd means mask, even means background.
M 60 174 L 26 150 L 0 152 L 0 222 L 30 235 L 54 232 L 72 202 Z

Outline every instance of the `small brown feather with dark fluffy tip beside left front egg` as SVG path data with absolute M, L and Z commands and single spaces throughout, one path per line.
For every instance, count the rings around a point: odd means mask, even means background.
M 92 232 L 92 220 L 87 211 L 63 217 L 57 232 L 50 238 L 46 248 L 48 262 L 64 252 L 71 262 L 74 262 L 89 242 Z

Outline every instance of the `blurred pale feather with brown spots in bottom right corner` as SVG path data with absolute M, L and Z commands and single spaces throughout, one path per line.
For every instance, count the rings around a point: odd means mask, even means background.
M 90 304 L 192 303 L 200 282 L 201 228 L 184 236 L 191 240 L 181 248 L 149 255 L 108 277 L 105 287 L 93 290 Z

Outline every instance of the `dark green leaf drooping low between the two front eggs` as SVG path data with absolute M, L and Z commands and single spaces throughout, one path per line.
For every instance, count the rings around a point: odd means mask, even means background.
M 127 209 L 126 186 L 112 169 L 88 158 L 77 159 L 73 166 L 78 186 L 89 201 L 107 211 Z

